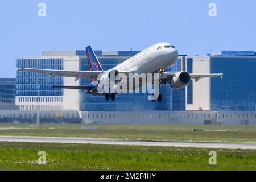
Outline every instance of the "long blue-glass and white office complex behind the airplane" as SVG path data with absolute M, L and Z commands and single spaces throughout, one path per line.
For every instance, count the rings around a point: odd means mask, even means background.
M 138 51 L 95 51 L 103 69 L 110 69 L 129 59 Z M 17 68 L 89 70 L 85 51 L 44 51 L 39 57 L 18 59 Z M 160 87 L 163 102 L 148 100 L 147 94 L 120 94 L 113 101 L 93 97 L 83 90 L 53 89 L 55 85 L 88 85 L 89 79 L 51 77 L 39 73 L 18 72 L 16 105 L 20 110 L 80 110 L 80 111 L 243 111 L 255 110 L 256 83 L 254 51 L 222 51 L 218 56 L 179 56 L 168 72 L 224 73 L 221 80 L 204 78 L 191 81 L 181 90 L 170 85 Z

